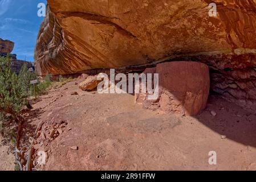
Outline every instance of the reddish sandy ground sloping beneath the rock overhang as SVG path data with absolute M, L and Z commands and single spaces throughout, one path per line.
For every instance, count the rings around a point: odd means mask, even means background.
M 218 96 L 197 117 L 177 117 L 144 110 L 131 94 L 84 92 L 72 81 L 33 107 L 25 132 L 35 137 L 43 123 L 35 147 L 47 154 L 37 170 L 256 170 L 255 113 Z M 63 133 L 52 139 L 56 123 Z

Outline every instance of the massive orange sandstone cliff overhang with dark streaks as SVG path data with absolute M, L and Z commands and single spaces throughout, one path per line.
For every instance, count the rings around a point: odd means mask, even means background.
M 39 75 L 65 75 L 164 60 L 211 68 L 212 89 L 256 105 L 253 0 L 48 0 L 35 49 Z M 218 14 L 210 17 L 209 3 Z

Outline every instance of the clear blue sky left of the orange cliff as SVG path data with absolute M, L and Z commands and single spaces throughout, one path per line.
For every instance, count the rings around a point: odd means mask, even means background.
M 17 59 L 34 61 L 34 48 L 40 23 L 38 3 L 46 0 L 0 0 L 0 38 L 15 43 L 11 53 Z

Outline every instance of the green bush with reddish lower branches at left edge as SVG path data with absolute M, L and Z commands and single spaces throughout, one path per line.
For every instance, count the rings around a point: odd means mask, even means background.
M 30 84 L 31 80 L 36 79 L 35 73 L 27 69 L 23 64 L 19 75 L 11 71 L 12 61 L 7 57 L 0 57 L 0 132 L 10 129 L 10 141 L 19 146 L 20 128 L 22 127 L 22 109 L 27 106 L 30 108 L 27 98 L 34 94 L 34 88 Z M 44 92 L 51 85 L 50 75 L 46 76 L 45 81 L 35 85 L 38 93 Z M 18 132 L 15 134 L 11 122 L 18 123 Z M 5 132 L 6 133 L 6 132 Z M 7 134 L 6 133 L 6 134 Z

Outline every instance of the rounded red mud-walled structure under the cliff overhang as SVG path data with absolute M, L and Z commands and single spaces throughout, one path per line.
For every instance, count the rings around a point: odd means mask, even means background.
M 146 109 L 161 109 L 166 113 L 197 115 L 205 109 L 210 76 L 207 65 L 197 62 L 179 61 L 158 64 L 160 95 L 157 100 L 147 100 L 147 96 L 136 94 L 136 102 Z M 145 73 L 152 73 L 153 68 Z

